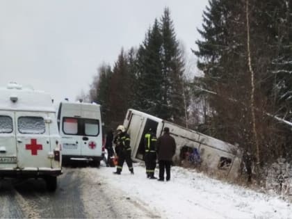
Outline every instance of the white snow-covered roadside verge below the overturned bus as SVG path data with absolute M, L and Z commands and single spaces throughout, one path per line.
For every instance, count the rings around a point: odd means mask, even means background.
M 99 169 L 84 171 L 90 177 L 102 175 L 106 188 L 122 191 L 161 218 L 292 218 L 290 202 L 210 179 L 195 170 L 172 167 L 170 181 L 147 179 L 143 163 L 134 163 L 134 175 L 126 164 L 122 175 L 113 175 L 115 168 L 103 163 Z

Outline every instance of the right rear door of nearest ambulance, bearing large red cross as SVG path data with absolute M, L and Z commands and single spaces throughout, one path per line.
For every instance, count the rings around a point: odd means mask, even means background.
M 16 112 L 15 127 L 19 168 L 51 168 L 51 143 L 46 113 Z

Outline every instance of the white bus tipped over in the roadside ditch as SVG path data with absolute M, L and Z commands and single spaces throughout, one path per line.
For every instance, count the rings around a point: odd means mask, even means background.
M 128 109 L 124 118 L 124 127 L 131 137 L 133 160 L 143 160 L 144 136 L 149 129 L 152 129 L 159 138 L 163 134 L 163 128 L 168 127 L 170 135 L 175 138 L 177 144 L 173 159 L 176 164 L 186 159 L 188 152 L 197 152 L 200 154 L 200 168 L 202 170 L 228 179 L 238 177 L 242 152 L 235 145 L 131 108 Z

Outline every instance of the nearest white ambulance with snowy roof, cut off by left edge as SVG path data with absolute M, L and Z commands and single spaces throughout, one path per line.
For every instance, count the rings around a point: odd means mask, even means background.
M 50 95 L 17 83 L 0 88 L 0 179 L 42 178 L 56 190 L 60 147 Z

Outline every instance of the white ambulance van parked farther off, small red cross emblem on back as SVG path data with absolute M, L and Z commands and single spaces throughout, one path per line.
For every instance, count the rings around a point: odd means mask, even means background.
M 99 104 L 60 102 L 58 129 L 63 143 L 64 164 L 85 161 L 99 167 L 102 160 L 102 117 Z

